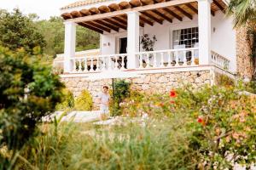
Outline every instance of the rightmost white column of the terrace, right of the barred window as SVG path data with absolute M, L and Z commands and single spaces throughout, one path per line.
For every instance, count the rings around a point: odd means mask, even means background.
M 211 59 L 211 0 L 198 0 L 199 64 Z

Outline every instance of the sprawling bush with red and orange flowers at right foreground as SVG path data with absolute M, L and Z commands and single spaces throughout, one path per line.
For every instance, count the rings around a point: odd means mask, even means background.
M 189 116 L 189 147 L 200 153 L 201 169 L 255 163 L 256 97 L 242 94 L 237 88 L 172 90 L 169 95 L 128 99 L 122 108 L 125 115 L 147 113 L 160 120 Z

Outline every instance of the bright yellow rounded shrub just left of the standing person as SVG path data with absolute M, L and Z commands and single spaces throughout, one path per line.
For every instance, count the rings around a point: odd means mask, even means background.
M 79 97 L 75 99 L 76 111 L 91 111 L 92 105 L 92 97 L 87 90 L 83 90 Z

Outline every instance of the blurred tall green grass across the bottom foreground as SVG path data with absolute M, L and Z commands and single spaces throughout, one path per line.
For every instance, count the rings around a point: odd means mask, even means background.
M 125 127 L 44 125 L 46 133 L 21 153 L 29 165 L 19 161 L 16 168 L 195 169 L 196 153 L 189 150 L 185 119 L 171 121 Z

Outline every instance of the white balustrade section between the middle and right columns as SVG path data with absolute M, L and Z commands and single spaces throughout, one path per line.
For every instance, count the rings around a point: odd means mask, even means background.
M 137 53 L 139 69 L 198 65 L 198 48 L 167 49 Z

